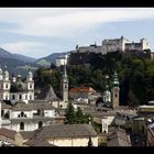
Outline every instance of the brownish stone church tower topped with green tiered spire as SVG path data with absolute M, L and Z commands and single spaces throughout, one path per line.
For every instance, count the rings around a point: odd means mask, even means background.
M 113 87 L 111 89 L 111 94 L 112 94 L 112 108 L 116 109 L 116 108 L 119 107 L 119 91 L 120 91 L 117 72 L 114 72 L 112 85 L 113 85 Z

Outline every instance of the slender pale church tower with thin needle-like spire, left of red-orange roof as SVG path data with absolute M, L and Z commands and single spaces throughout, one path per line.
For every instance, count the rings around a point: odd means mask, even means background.
M 68 77 L 66 73 L 66 65 L 64 65 L 64 75 L 62 80 L 62 95 L 63 95 L 63 101 L 68 102 Z

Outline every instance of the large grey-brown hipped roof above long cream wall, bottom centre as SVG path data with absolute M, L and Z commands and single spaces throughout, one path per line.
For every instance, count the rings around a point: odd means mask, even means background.
M 89 124 L 58 124 L 46 125 L 37 130 L 36 139 L 52 138 L 82 138 L 97 136 L 95 129 Z

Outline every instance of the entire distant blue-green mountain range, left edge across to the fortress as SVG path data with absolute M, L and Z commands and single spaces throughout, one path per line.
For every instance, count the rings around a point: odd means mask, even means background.
M 56 57 L 70 54 L 70 52 L 53 53 L 46 57 L 35 59 L 20 54 L 11 54 L 10 52 L 0 47 L 0 65 L 2 68 L 7 65 L 10 74 L 25 75 L 29 67 L 32 67 L 33 72 L 42 66 L 48 67 L 52 63 L 56 63 Z

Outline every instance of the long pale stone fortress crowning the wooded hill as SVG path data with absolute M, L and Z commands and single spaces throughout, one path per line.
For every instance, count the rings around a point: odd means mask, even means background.
M 145 38 L 141 38 L 140 43 L 130 42 L 121 36 L 114 40 L 103 40 L 101 45 L 91 44 L 90 46 L 76 46 L 77 53 L 101 53 L 121 51 L 123 53 L 129 51 L 144 51 L 150 50 L 150 43 Z

